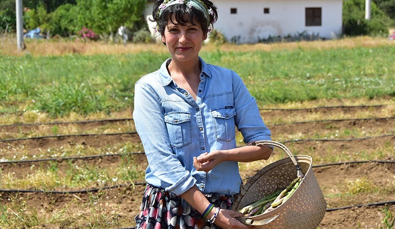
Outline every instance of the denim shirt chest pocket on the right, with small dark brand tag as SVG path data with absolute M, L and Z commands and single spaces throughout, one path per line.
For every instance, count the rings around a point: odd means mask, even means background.
M 230 141 L 235 138 L 235 108 L 221 108 L 211 111 L 217 140 Z

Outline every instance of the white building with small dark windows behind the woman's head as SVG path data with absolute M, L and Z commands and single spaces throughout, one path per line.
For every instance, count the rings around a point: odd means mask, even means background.
M 152 14 L 152 0 L 145 15 Z M 301 33 L 332 39 L 342 33 L 343 0 L 213 0 L 218 8 L 214 29 L 228 41 L 257 43 L 269 37 Z M 155 24 L 149 22 L 154 34 Z M 157 36 L 157 35 L 155 35 Z

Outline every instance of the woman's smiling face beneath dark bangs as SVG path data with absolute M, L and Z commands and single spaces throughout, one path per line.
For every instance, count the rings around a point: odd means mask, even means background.
M 162 42 L 166 44 L 173 59 L 178 61 L 196 60 L 203 41 L 207 39 L 207 34 L 198 22 L 186 25 L 173 24 L 174 16 L 169 20 L 162 36 Z M 175 22 L 176 23 L 176 22 Z

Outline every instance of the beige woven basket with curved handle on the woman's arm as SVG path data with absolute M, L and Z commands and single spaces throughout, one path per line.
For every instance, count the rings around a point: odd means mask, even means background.
M 244 218 L 244 221 L 255 222 L 252 225 L 257 229 L 316 229 L 325 215 L 326 202 L 312 170 L 312 158 L 293 156 L 287 147 L 276 141 L 254 142 L 254 145 L 265 144 L 280 147 L 288 158 L 265 166 L 241 185 L 232 209 L 238 211 L 301 177 L 300 185 L 289 199 L 270 212 Z M 256 225 L 257 222 L 265 225 Z

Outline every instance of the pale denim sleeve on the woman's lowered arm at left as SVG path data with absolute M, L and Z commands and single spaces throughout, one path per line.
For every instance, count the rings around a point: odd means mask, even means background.
M 147 182 L 159 180 L 161 187 L 176 195 L 195 185 L 196 180 L 173 153 L 158 94 L 141 81 L 135 85 L 133 119 L 149 163 Z

